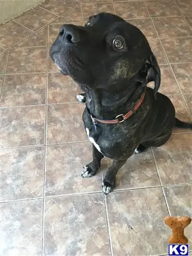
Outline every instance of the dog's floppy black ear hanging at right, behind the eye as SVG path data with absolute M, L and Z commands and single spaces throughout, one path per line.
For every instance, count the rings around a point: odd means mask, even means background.
M 161 84 L 161 71 L 158 67 L 158 63 L 156 60 L 156 57 L 154 55 L 151 55 L 148 60 L 148 71 L 147 71 L 147 83 L 154 81 L 155 87 L 154 87 L 154 97 L 157 97 L 158 89 L 160 88 Z

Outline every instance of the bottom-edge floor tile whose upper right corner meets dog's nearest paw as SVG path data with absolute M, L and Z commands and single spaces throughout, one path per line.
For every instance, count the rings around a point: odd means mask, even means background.
M 44 255 L 109 255 L 102 193 L 45 199 Z

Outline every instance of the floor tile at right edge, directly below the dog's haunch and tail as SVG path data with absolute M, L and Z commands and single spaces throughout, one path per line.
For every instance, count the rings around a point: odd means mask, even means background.
M 153 147 L 157 169 L 163 185 L 192 181 L 192 134 L 176 134 L 161 147 Z

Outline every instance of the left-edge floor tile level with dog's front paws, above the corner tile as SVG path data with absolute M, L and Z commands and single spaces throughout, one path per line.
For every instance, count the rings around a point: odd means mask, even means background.
M 1 150 L 1 200 L 43 196 L 44 147 Z

